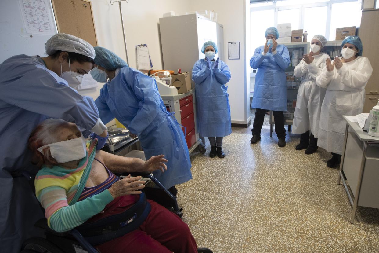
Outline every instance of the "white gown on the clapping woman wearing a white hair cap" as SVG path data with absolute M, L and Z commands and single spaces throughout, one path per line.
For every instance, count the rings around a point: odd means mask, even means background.
M 326 66 L 326 58 L 330 57 L 326 53 L 314 57 L 315 59 L 310 64 L 301 60 L 294 70 L 294 75 L 301 77 L 302 82 L 296 99 L 292 133 L 304 134 L 310 130 L 317 138 L 321 104 L 324 100 L 326 88 L 316 85 L 316 77 L 321 74 Z

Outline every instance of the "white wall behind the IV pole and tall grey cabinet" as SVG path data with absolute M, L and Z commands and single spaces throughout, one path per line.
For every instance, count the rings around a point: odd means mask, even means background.
M 245 41 L 249 39 L 250 24 L 249 1 L 238 0 L 230 2 L 227 0 L 165 0 L 165 1 L 149 1 L 149 0 L 130 0 L 129 3 L 122 2 L 122 14 L 124 18 L 125 36 L 128 50 L 129 65 L 136 68 L 135 46 L 138 44 L 147 44 L 149 47 L 150 57 L 154 69 L 163 67 L 160 35 L 159 35 L 159 18 L 163 13 L 175 11 L 176 15 L 183 15 L 186 11 L 196 10 L 214 10 L 218 13 L 217 22 L 224 26 L 224 55 L 227 55 L 227 42 L 240 42 L 240 59 L 228 60 L 228 64 L 232 73 L 232 78 L 229 82 L 229 101 L 231 107 L 232 123 L 246 123 L 248 119 L 248 106 L 250 94 L 250 78 L 249 73 L 246 73 L 248 60 L 245 55 Z M 107 0 L 93 0 L 92 9 L 94 12 L 94 20 L 96 34 L 99 46 L 106 47 L 115 52 L 121 58 L 126 60 L 124 41 L 122 38 L 121 19 L 119 14 L 118 3 L 111 5 Z M 179 27 L 178 27 L 179 29 Z M 185 49 L 183 52 L 185 53 Z M 99 89 L 102 84 L 96 89 L 82 90 L 79 93 L 82 95 L 91 96 L 94 99 L 99 94 Z M 241 101 L 244 97 L 244 102 Z

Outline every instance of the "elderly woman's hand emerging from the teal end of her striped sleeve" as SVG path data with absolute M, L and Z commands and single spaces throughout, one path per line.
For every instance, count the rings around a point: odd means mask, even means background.
M 139 179 L 141 179 L 141 176 L 131 177 L 128 175 L 112 184 L 108 190 L 114 199 L 124 195 L 141 194 L 140 190 L 145 188 L 145 181 L 140 181 Z

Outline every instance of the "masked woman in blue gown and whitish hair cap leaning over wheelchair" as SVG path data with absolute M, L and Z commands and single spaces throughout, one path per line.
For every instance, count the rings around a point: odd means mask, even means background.
M 93 47 L 60 33 L 46 42 L 46 53 L 15 55 L 0 64 L 1 252 L 19 252 L 23 240 L 41 233 L 34 223 L 44 215 L 25 177 L 38 171 L 28 149 L 31 131 L 47 118 L 59 118 L 76 123 L 85 135 L 92 130 L 102 145 L 108 135 L 93 99 L 72 88 L 92 69 Z

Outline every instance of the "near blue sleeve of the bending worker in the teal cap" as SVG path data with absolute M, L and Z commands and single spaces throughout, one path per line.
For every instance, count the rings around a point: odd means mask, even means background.
M 123 79 L 128 80 L 127 85 L 132 88 L 139 102 L 137 115 L 132 119 L 127 128 L 133 134 L 140 135 L 157 116 L 160 95 L 153 78 L 137 71 L 131 71 L 130 73 L 132 76 L 125 76 Z

